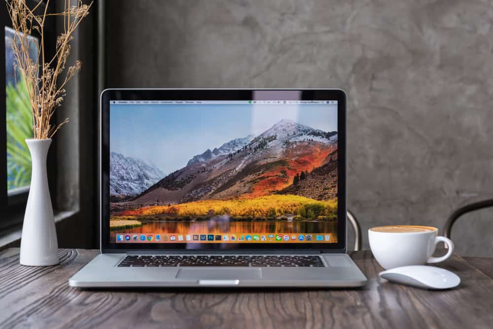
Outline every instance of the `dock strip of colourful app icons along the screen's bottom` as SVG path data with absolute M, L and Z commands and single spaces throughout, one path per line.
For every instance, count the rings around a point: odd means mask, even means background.
M 133 234 L 116 233 L 116 243 L 304 243 L 334 242 L 331 234 L 305 233 L 237 233 L 237 234 Z

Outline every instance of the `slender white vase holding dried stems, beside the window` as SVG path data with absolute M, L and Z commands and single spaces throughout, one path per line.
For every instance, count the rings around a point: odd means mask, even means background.
M 46 172 L 51 139 L 26 139 L 26 143 L 31 152 L 33 171 L 22 225 L 20 263 L 29 266 L 55 265 L 60 260 Z

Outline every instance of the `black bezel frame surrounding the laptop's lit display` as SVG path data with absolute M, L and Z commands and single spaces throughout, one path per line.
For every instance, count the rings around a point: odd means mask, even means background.
M 109 115 L 110 100 L 333 100 L 337 101 L 338 126 L 338 220 L 337 243 L 112 243 L 109 240 Z M 346 94 L 341 89 L 106 89 L 100 108 L 100 238 L 102 253 L 163 252 L 286 252 L 321 251 L 345 253 L 346 219 Z

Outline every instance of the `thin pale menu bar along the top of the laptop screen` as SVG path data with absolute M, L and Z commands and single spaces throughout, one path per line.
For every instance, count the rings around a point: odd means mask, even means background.
M 109 104 L 115 105 L 191 105 L 191 104 L 216 104 L 216 105 L 301 105 L 301 104 L 325 104 L 336 105 L 337 101 L 116 101 L 110 100 Z

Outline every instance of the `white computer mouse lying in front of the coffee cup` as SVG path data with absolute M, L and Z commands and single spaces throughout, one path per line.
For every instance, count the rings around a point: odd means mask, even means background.
M 383 271 L 380 277 L 395 283 L 425 289 L 450 289 L 457 287 L 457 274 L 440 267 L 426 265 L 401 266 Z

